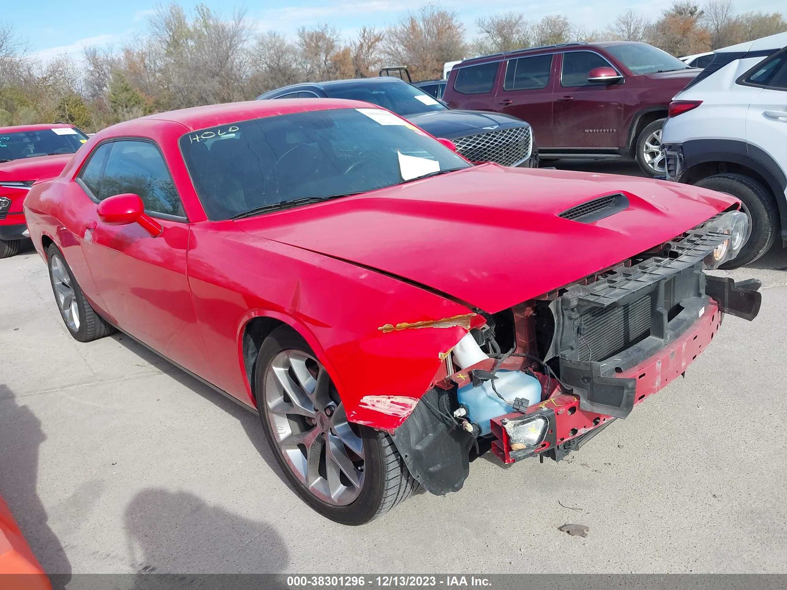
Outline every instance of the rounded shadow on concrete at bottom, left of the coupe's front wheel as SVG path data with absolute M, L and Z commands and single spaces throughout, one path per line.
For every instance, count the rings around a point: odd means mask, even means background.
M 216 588 L 224 577 L 217 573 L 281 573 L 289 562 L 284 540 L 271 525 L 243 518 L 183 490 L 138 492 L 124 511 L 124 525 L 128 558 L 137 573 L 135 588 L 153 582 L 164 588 L 171 581 L 171 575 L 153 573 L 176 574 L 179 587 Z M 256 587 L 276 586 L 258 580 Z

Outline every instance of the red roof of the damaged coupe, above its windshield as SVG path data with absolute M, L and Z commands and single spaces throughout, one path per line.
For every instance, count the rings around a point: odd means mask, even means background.
M 197 129 L 205 129 L 206 127 L 237 123 L 238 121 L 260 119 L 265 116 L 331 109 L 357 109 L 359 107 L 379 109 L 378 106 L 370 105 L 368 102 L 349 101 L 340 98 L 292 98 L 279 101 L 227 102 L 221 105 L 195 106 L 190 109 L 179 109 L 177 111 L 159 112 L 155 115 L 143 116 L 139 119 L 132 119 L 107 127 L 106 130 L 100 131 L 96 135 L 101 135 L 101 138 L 123 135 L 133 131 L 135 127 L 139 127 L 139 124 L 145 121 L 164 121 L 171 124 L 179 124 L 181 127 L 186 127 L 188 131 L 195 131 Z

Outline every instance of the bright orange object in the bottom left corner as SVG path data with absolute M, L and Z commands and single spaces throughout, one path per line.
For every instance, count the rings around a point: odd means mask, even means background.
M 3 590 L 51 590 L 49 578 L 0 497 L 0 587 Z

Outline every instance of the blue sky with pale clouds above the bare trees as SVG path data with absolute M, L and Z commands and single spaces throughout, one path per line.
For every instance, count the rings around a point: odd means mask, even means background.
M 783 2 L 774 0 L 734 0 L 738 12 L 784 10 Z M 698 0 L 702 2 L 702 0 Z M 146 0 L 35 0 L 20 2 L 5 0 L 0 20 L 13 24 L 17 33 L 26 39 L 31 51 L 43 61 L 61 53 L 79 58 L 84 46 L 120 47 L 124 42 L 146 31 L 147 19 L 158 2 Z M 198 2 L 182 0 L 187 9 Z M 260 31 L 275 30 L 294 35 L 301 25 L 307 27 L 327 22 L 349 38 L 364 25 L 384 27 L 405 16 L 408 10 L 429 3 L 424 0 L 242 0 L 220 2 L 204 0 L 204 4 L 219 13 L 231 13 L 234 6 L 245 6 L 247 14 Z M 651 18 L 669 6 L 668 0 L 619 0 L 610 5 L 608 0 L 444 0 L 445 8 L 456 11 L 465 25 L 468 37 L 475 36 L 475 20 L 509 10 L 521 12 L 527 20 L 538 20 L 550 14 L 565 14 L 575 25 L 588 31 L 604 29 L 626 9 L 641 11 Z M 612 8 L 614 6 L 614 8 Z

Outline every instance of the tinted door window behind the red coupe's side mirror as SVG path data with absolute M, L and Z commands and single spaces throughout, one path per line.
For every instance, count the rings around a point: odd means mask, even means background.
M 164 157 L 150 142 L 113 142 L 106 160 L 101 198 L 139 194 L 149 213 L 185 216 Z

